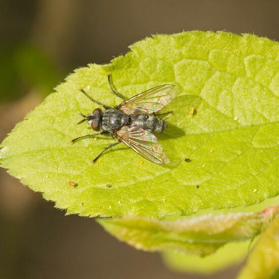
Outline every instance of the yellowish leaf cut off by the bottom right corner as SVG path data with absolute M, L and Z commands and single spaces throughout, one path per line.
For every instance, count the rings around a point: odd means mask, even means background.
M 260 236 L 239 279 L 270 278 L 279 268 L 279 215 Z

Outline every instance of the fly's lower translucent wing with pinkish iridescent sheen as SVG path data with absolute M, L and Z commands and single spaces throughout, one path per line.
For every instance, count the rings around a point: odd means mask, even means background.
M 115 132 L 115 136 L 127 147 L 151 162 L 156 164 L 167 164 L 169 162 L 157 137 L 147 130 L 135 126 L 130 128 L 124 126 Z

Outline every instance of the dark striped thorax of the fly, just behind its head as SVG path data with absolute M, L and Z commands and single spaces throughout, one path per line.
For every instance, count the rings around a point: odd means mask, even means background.
M 119 110 L 106 110 L 102 116 L 101 129 L 112 132 L 129 123 L 129 117 Z

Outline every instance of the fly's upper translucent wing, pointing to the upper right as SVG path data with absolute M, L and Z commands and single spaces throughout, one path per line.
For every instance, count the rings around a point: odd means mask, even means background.
M 157 113 L 175 97 L 176 92 L 175 85 L 159 85 L 123 101 L 119 110 L 127 115 Z

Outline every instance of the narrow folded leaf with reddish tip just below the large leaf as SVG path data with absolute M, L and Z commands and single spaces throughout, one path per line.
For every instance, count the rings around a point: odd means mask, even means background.
M 278 212 L 279 208 L 273 206 L 260 213 L 203 215 L 173 221 L 134 216 L 100 219 L 98 223 L 137 249 L 204 256 L 215 252 L 227 242 L 256 237 Z

